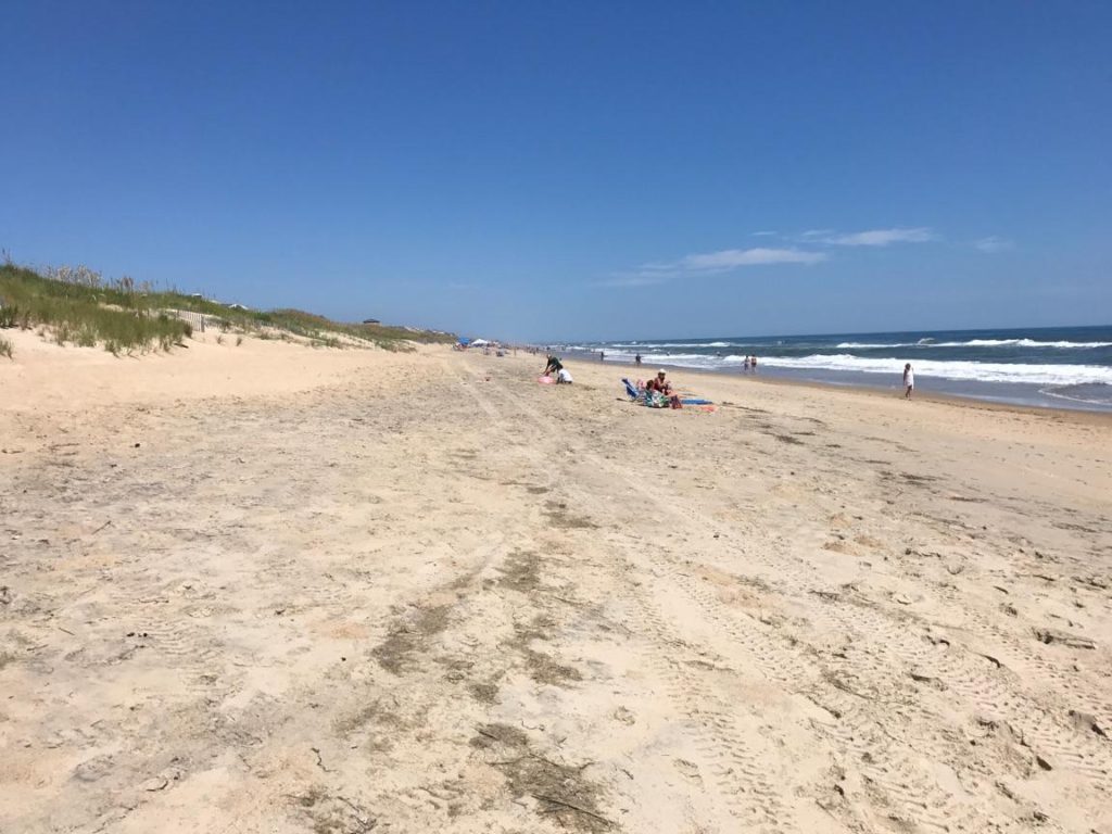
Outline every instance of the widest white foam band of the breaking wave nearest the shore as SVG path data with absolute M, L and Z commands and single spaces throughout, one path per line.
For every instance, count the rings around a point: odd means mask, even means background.
M 848 354 L 833 356 L 770 356 L 762 363 L 775 368 L 814 370 L 855 370 L 864 374 L 898 376 L 906 359 L 864 358 Z M 982 383 L 1027 383 L 1032 385 L 1112 385 L 1112 368 L 1100 365 L 1024 365 L 977 361 L 936 361 L 917 359 L 915 373 L 924 377 L 969 379 Z

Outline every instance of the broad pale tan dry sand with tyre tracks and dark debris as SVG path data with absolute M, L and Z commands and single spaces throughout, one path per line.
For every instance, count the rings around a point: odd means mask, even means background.
M 4 834 L 1112 831 L 1106 419 L 17 351 Z

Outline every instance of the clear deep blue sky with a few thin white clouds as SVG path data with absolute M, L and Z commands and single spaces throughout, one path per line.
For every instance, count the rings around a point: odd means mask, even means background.
M 533 340 L 1112 319 L 1112 3 L 3 17 L 17 261 Z

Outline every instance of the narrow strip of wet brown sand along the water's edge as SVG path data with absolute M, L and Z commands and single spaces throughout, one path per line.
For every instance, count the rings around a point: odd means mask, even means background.
M 539 355 L 538 355 L 539 356 Z M 576 367 L 615 367 L 615 368 L 628 368 L 631 370 L 641 371 L 644 376 L 646 369 L 655 369 L 657 366 L 652 366 L 647 363 L 643 363 L 639 367 L 634 363 L 622 363 L 612 361 L 607 359 L 606 361 L 595 361 L 587 359 L 582 354 L 567 354 L 567 358 L 560 357 L 560 360 L 566 363 L 575 363 Z M 876 397 L 884 400 L 892 399 L 903 399 L 902 391 L 892 388 L 886 389 L 882 386 L 870 386 L 870 385 L 858 385 L 856 383 L 822 383 L 813 379 L 793 379 L 791 377 L 783 376 L 770 376 L 761 370 L 756 374 L 745 374 L 745 373 L 729 373 L 721 370 L 717 368 L 689 368 L 681 365 L 667 365 L 662 364 L 669 376 L 694 374 L 698 376 L 707 376 L 716 379 L 723 380 L 738 380 L 746 383 L 759 383 L 763 385 L 772 386 L 788 386 L 798 388 L 810 388 L 813 390 L 821 391 L 846 391 L 852 394 L 860 394 L 870 397 Z M 628 376 L 628 375 L 626 375 Z M 619 380 L 620 381 L 620 378 Z M 1041 406 L 1023 403 L 1006 403 L 997 401 L 991 399 L 981 399 L 975 396 L 964 396 L 960 394 L 945 394 L 942 391 L 921 391 L 915 390 L 912 403 L 940 403 L 952 406 L 959 406 L 963 408 L 982 408 L 990 411 L 1006 411 L 1014 414 L 1029 414 L 1029 415 L 1042 415 L 1046 417 L 1053 417 L 1055 419 L 1069 419 L 1076 421 L 1081 425 L 1098 425 L 1098 426 L 1109 426 L 1112 425 L 1112 409 L 1102 410 L 1096 408 L 1070 408 L 1066 406 Z

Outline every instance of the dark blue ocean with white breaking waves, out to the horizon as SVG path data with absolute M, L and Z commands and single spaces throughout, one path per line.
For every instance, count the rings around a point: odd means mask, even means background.
M 1112 410 L 1112 326 L 1007 330 L 922 330 L 822 336 L 647 339 L 554 346 L 569 355 L 604 351 L 605 361 L 743 370 L 830 385 L 902 390 L 905 363 L 917 391 L 999 403 Z

